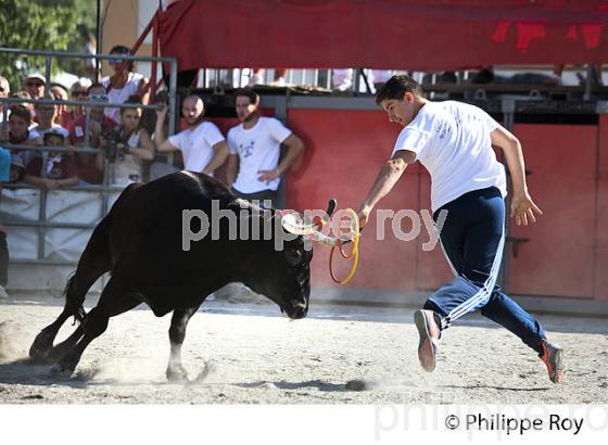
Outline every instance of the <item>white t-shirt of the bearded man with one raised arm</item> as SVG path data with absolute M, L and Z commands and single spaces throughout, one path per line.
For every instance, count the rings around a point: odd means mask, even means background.
M 169 136 L 168 140 L 183 154 L 183 168 L 201 173 L 213 158 L 213 145 L 225 139 L 215 124 L 203 122 L 194 129 Z

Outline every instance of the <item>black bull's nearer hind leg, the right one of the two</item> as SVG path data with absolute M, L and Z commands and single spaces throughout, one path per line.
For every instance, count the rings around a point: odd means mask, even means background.
M 58 345 L 56 354 L 61 355 L 58 365 L 53 367 L 52 372 L 72 373 L 83 353 L 94 339 L 105 332 L 110 317 L 123 314 L 136 307 L 141 301 L 132 295 L 127 295 L 124 287 L 115 278 L 111 278 L 103 290 L 99 303 L 87 314 L 81 327 L 81 339 L 75 335 L 76 332 L 64 343 Z M 54 349 L 53 349 L 54 351 Z

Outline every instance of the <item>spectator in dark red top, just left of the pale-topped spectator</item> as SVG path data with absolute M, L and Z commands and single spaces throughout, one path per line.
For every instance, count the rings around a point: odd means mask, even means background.
M 90 102 L 107 103 L 105 88 L 101 84 L 93 84 L 87 90 Z M 114 129 L 118 124 L 103 114 L 103 106 L 91 106 L 89 122 L 89 148 L 100 148 L 102 134 Z M 73 145 L 85 147 L 86 116 L 81 116 L 69 129 L 69 139 Z M 99 185 L 103 179 L 103 153 L 75 153 L 76 169 L 81 185 Z

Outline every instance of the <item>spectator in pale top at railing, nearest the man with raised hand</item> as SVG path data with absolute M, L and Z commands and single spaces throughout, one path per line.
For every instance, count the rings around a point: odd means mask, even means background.
M 131 96 L 125 103 L 141 103 L 139 96 Z M 142 160 L 154 158 L 154 143 L 145 128 L 140 127 L 140 109 L 121 109 L 122 125 L 104 137 L 102 145 L 115 144 L 115 156 L 111 157 L 110 183 L 127 186 L 143 180 Z M 112 160 L 115 157 L 115 162 Z

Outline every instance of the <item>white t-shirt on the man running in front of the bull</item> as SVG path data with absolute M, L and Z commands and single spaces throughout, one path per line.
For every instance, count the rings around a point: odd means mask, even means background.
M 393 154 L 416 153 L 431 174 L 433 212 L 463 194 L 496 187 L 507 195 L 505 167 L 498 161 L 490 134 L 498 127 L 483 110 L 467 103 L 427 102 L 400 134 Z

